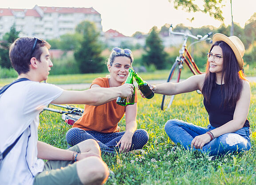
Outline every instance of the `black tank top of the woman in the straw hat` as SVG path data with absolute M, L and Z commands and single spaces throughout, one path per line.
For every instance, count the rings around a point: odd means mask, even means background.
M 227 104 L 224 107 L 224 98 L 224 87 L 221 88 L 221 85 L 216 83 L 212 87 L 210 102 L 207 102 L 204 98 L 204 107 L 208 112 L 209 122 L 212 127 L 220 127 L 233 119 L 236 105 Z M 250 127 L 248 119 L 246 119 L 244 127 Z

